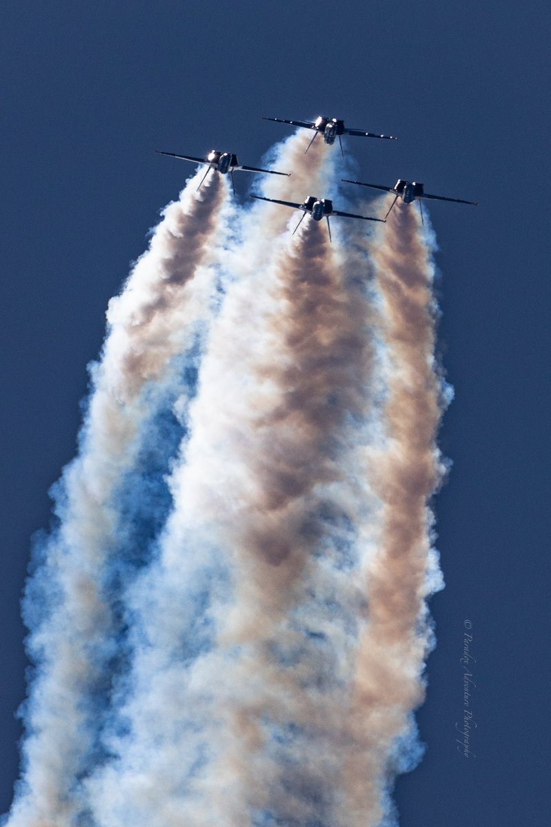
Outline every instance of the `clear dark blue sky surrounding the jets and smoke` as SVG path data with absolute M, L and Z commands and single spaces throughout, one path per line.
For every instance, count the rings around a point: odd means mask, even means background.
M 258 165 L 290 129 L 262 115 L 323 113 L 399 137 L 349 139 L 358 178 L 479 202 L 430 208 L 453 471 L 436 500 L 447 588 L 417 715 L 428 751 L 397 782 L 401 825 L 549 825 L 550 23 L 545 0 L 2 4 L 0 810 L 30 538 L 74 456 L 108 299 L 193 170 L 154 150 Z M 455 731 L 466 619 L 469 759 Z

